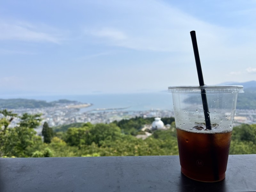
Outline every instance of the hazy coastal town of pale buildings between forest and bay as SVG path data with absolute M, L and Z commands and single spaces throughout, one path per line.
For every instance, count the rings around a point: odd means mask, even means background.
M 171 117 L 174 116 L 172 110 L 150 109 L 146 111 L 129 111 L 128 108 L 104 108 L 93 109 L 81 112 L 80 109 L 90 107 L 92 104 L 64 103 L 54 107 L 44 108 L 18 108 L 10 109 L 13 113 L 21 115 L 23 113 L 42 114 L 42 124 L 47 122 L 49 126 L 55 127 L 72 123 L 111 123 L 122 119 L 130 119 L 133 117 Z M 14 127 L 19 123 L 18 118 L 14 118 L 10 127 Z M 236 109 L 234 118 L 234 126 L 239 124 L 255 124 L 256 110 Z M 39 134 L 42 130 L 42 124 L 36 129 Z

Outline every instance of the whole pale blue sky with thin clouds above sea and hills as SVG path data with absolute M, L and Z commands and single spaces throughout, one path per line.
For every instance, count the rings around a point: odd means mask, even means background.
M 256 80 L 256 0 L 0 2 L 0 98 Z

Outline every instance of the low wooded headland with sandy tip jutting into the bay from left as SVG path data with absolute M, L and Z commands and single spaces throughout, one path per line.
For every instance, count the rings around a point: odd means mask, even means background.
M 43 107 L 56 107 L 61 105 L 68 105 L 68 108 L 84 108 L 91 104 L 80 103 L 78 101 L 71 101 L 61 99 L 52 102 L 34 99 L 0 99 L 0 108 L 17 109 L 17 108 L 43 108 Z

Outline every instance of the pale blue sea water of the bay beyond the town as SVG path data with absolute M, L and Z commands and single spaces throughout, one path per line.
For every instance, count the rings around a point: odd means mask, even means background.
M 81 112 L 97 108 L 127 108 L 129 111 L 146 111 L 151 109 L 173 110 L 172 94 L 166 92 L 129 93 L 129 94 L 90 94 L 90 95 L 54 95 L 28 96 L 26 99 L 54 101 L 59 99 L 92 103 Z

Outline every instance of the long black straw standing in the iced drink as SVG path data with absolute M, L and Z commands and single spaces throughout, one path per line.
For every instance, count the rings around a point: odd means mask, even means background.
M 204 86 L 204 77 L 203 77 L 203 72 L 202 72 L 202 67 L 201 67 L 197 42 L 196 42 L 196 31 L 190 31 L 190 36 L 191 36 L 195 60 L 196 60 L 196 70 L 197 70 L 199 85 Z M 204 119 L 205 119 L 206 129 L 211 130 L 212 126 L 211 126 L 211 120 L 210 120 L 210 112 L 209 112 L 207 98 L 206 98 L 206 91 L 204 88 L 201 88 L 201 97 L 202 97 L 202 102 L 203 102 Z

